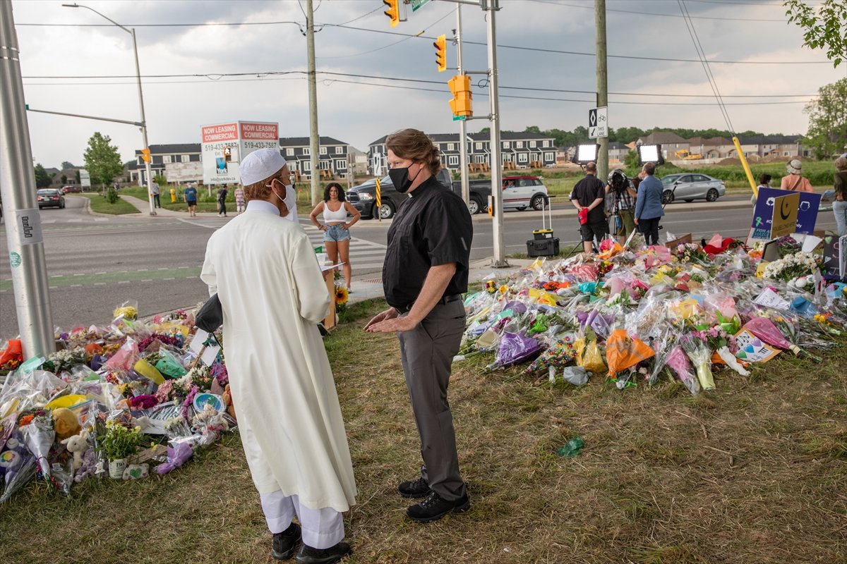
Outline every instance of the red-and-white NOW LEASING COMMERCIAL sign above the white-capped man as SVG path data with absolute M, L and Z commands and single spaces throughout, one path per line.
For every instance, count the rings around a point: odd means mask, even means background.
M 231 122 L 202 127 L 203 183 L 240 183 L 238 164 L 257 149 L 279 149 L 279 124 Z

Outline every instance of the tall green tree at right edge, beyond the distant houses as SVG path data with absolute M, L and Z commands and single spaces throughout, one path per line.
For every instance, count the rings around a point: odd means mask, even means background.
M 803 145 L 817 159 L 826 159 L 844 151 L 847 145 L 847 79 L 840 79 L 817 90 L 817 99 L 803 110 L 809 114 L 809 131 Z

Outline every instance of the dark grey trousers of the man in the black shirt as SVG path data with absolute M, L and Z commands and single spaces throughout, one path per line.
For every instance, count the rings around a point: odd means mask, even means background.
M 465 330 L 462 300 L 438 304 L 412 331 L 397 333 L 412 413 L 421 439 L 421 476 L 448 501 L 465 495 L 456 432 L 447 402 L 453 357 Z

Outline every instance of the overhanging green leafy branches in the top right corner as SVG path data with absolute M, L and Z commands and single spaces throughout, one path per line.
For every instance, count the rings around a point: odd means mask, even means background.
M 823 0 L 812 8 L 805 0 L 784 0 L 789 24 L 803 30 L 803 45 L 826 49 L 827 58 L 838 67 L 847 57 L 847 0 Z

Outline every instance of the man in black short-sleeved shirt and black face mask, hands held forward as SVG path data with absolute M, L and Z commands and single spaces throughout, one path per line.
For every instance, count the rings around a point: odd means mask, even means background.
M 403 129 L 385 145 L 391 182 L 409 199 L 388 230 L 382 280 L 391 307 L 365 331 L 396 332 L 400 339 L 424 465 L 398 491 L 425 498 L 407 515 L 427 523 L 471 505 L 459 474 L 447 385 L 465 329 L 462 293 L 468 291 L 473 224 L 464 201 L 435 179 L 440 155 L 424 132 Z

